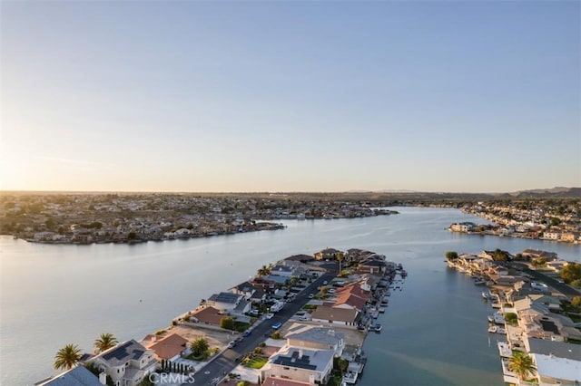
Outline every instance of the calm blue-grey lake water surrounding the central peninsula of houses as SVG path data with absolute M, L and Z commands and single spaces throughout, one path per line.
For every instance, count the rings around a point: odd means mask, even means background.
M 0 237 L 0 384 L 32 384 L 54 373 L 66 343 L 92 351 L 101 333 L 141 339 L 200 299 L 248 279 L 261 265 L 326 246 L 359 247 L 401 262 L 402 292 L 370 335 L 363 385 L 500 384 L 490 308 L 481 289 L 443 263 L 448 250 L 527 247 L 579 260 L 580 246 L 451 234 L 452 222 L 481 220 L 452 209 L 401 207 L 397 216 L 290 221 L 281 231 L 135 246 L 46 246 Z

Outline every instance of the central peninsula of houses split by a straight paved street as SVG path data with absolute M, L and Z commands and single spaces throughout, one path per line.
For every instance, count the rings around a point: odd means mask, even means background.
M 381 331 L 375 319 L 389 287 L 406 275 L 356 248 L 290 256 L 139 341 L 79 352 L 71 369 L 36 384 L 353 384 L 367 361 L 366 335 Z

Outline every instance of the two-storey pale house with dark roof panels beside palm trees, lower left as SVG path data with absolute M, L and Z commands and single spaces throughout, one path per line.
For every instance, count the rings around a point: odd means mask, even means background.
M 109 375 L 115 386 L 136 386 L 154 372 L 157 365 L 155 352 L 133 339 L 101 352 L 88 362 Z

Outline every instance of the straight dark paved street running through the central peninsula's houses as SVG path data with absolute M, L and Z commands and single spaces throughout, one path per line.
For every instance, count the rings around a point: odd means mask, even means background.
M 238 362 L 236 362 L 237 358 L 244 356 L 247 352 L 251 352 L 259 343 L 266 339 L 265 334 L 273 331 L 273 323 L 286 323 L 292 315 L 296 314 L 309 302 L 309 294 L 316 293 L 318 286 L 322 285 L 325 281 L 330 282 L 339 274 L 339 265 L 335 263 L 329 263 L 323 265 L 323 267 L 327 269 L 327 272 L 301 291 L 300 294 L 297 294 L 294 302 L 285 304 L 284 308 L 274 314 L 272 319 L 266 319 L 262 323 L 254 324 L 251 329 L 251 334 L 246 338 L 242 338 L 236 347 L 222 352 L 222 354 L 219 354 L 216 359 L 208 363 L 200 372 L 197 372 L 194 375 L 195 384 L 215 384 L 217 380 L 221 380 L 225 374 L 230 373 L 238 365 Z M 185 385 L 187 383 L 183 384 L 183 386 Z

